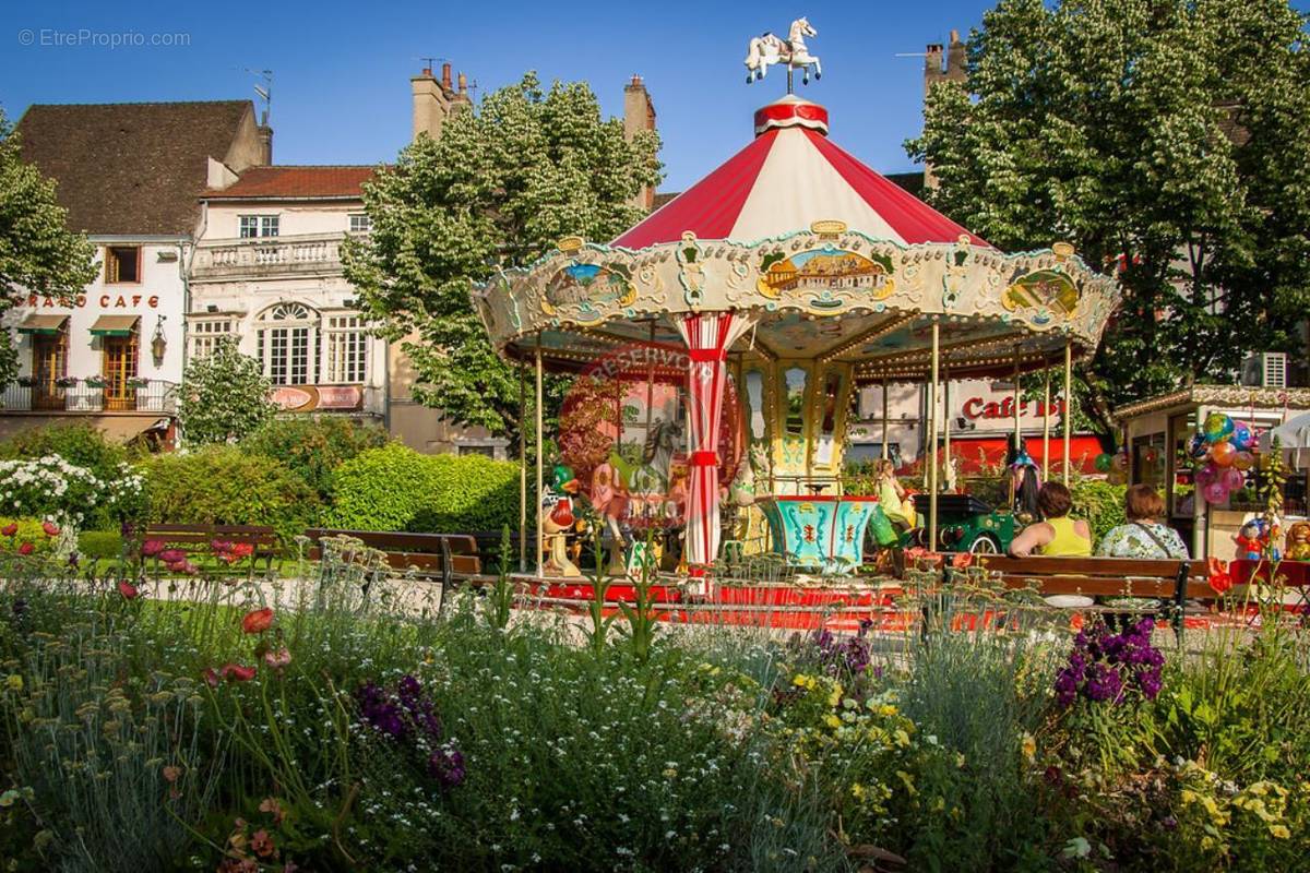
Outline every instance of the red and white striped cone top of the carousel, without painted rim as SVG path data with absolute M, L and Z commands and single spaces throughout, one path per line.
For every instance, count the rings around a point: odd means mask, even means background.
M 756 139 L 612 245 L 645 249 L 698 240 L 756 242 L 844 221 L 901 245 L 988 243 L 828 139 L 828 111 L 795 96 L 755 115 Z

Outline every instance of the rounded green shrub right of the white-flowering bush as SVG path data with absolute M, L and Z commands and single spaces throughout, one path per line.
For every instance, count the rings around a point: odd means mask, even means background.
M 141 465 L 151 521 L 270 525 L 284 539 L 313 522 L 318 500 L 287 465 L 238 446 L 165 454 Z

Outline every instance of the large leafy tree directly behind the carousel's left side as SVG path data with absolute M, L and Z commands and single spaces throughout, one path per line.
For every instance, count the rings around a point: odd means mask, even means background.
M 524 266 L 557 240 L 610 240 L 642 216 L 630 203 L 659 181 L 654 134 L 627 141 L 582 82 L 542 92 L 536 75 L 487 94 L 421 136 L 364 186 L 372 229 L 347 241 L 346 277 L 403 343 L 415 398 L 445 418 L 517 436 L 519 378 L 487 342 L 474 283 Z M 531 389 L 529 389 L 531 394 Z M 552 380 L 558 408 L 561 383 Z

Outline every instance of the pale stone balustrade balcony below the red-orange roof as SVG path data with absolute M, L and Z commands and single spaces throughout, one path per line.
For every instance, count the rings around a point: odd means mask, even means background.
M 310 275 L 341 272 L 345 233 L 305 233 L 254 240 L 206 240 L 195 247 L 193 280 L 246 275 Z

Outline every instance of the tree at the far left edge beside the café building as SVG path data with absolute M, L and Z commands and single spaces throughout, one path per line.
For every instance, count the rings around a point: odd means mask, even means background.
M 71 301 L 96 277 L 94 254 L 86 237 L 68 230 L 54 179 L 22 160 L 0 110 L 0 313 L 30 293 Z M 0 331 L 0 385 L 17 373 L 9 331 Z

